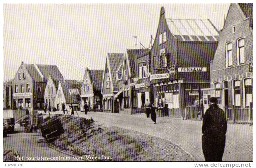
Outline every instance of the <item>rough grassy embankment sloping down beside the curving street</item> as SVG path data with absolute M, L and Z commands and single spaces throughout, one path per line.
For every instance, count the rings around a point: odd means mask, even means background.
M 111 157 L 113 161 L 193 161 L 180 146 L 167 140 L 118 127 L 103 127 L 76 116 L 56 116 L 64 133 L 53 142 L 76 156 Z

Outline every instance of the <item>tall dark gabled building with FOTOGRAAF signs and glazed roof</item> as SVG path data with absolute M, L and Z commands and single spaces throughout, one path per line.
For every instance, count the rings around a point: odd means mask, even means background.
M 154 89 L 150 97 L 154 97 L 153 102 L 161 109 L 159 115 L 191 114 L 187 111 L 198 104 L 201 88 L 210 86 L 210 60 L 218 36 L 209 19 L 174 19 L 161 7 L 151 49 L 150 75 Z

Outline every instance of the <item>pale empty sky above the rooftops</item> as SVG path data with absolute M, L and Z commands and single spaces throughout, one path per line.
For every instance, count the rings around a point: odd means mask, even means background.
M 167 18 L 207 19 L 222 29 L 229 4 L 4 4 L 4 81 L 21 64 L 54 64 L 67 79 L 103 69 L 107 53 L 148 47 L 160 8 Z M 139 45 L 138 45 L 139 47 Z

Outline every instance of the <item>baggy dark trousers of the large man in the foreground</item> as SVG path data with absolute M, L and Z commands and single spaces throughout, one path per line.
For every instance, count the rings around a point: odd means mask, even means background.
M 203 135 L 202 148 L 205 161 L 222 161 L 222 156 L 225 149 L 225 141 L 225 135 Z

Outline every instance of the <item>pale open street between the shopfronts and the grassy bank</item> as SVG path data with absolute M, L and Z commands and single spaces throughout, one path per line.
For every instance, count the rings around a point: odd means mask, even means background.
M 204 161 L 201 147 L 201 121 L 182 120 L 181 118 L 158 117 L 157 124 L 144 115 L 78 112 L 80 117 L 93 118 L 105 126 L 117 126 L 161 137 L 180 145 L 195 160 Z M 252 161 L 252 126 L 228 124 L 223 161 Z

